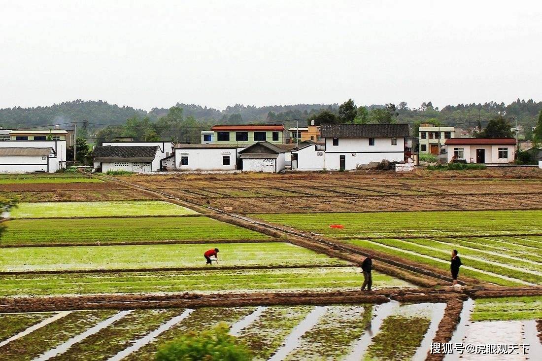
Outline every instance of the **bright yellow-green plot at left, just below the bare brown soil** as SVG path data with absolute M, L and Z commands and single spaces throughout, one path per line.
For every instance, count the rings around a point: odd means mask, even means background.
M 122 216 L 183 216 L 197 214 L 189 208 L 164 201 L 23 202 L 11 218 L 77 218 Z

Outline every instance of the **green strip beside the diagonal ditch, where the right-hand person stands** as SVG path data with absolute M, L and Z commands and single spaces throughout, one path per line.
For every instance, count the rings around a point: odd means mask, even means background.
M 351 239 L 351 240 L 347 240 L 346 242 L 350 243 L 350 244 L 353 244 L 353 245 L 363 247 L 363 248 L 381 251 L 381 252 L 387 253 L 387 254 L 392 255 L 392 256 L 398 256 L 398 257 L 406 258 L 406 259 L 409 259 L 410 261 L 418 262 L 418 263 L 420 263 L 422 265 L 427 264 L 427 265 L 430 265 L 430 266 L 433 266 L 433 267 L 436 267 L 436 268 L 443 269 L 443 270 L 445 270 L 447 272 L 450 271 L 449 261 L 436 261 L 435 259 L 430 259 L 430 258 L 424 257 L 422 255 L 412 255 L 412 254 L 403 252 L 400 249 L 397 249 L 397 250 L 390 249 L 390 248 L 384 247 L 382 245 L 379 245 L 379 244 L 377 244 L 375 242 L 371 242 L 370 240 L 366 240 L 366 239 Z M 470 269 L 465 269 L 465 268 L 461 269 L 460 277 L 461 277 L 461 275 L 465 275 L 467 277 L 472 277 L 472 278 L 477 278 L 480 281 L 500 284 L 501 286 L 520 286 L 520 285 L 522 285 L 522 283 L 519 283 L 519 282 L 505 280 L 504 278 L 495 277 L 495 276 L 492 276 L 492 275 L 487 275 L 485 273 L 481 273 L 481 272 L 478 272 L 478 271 L 475 271 L 475 270 L 470 270 Z

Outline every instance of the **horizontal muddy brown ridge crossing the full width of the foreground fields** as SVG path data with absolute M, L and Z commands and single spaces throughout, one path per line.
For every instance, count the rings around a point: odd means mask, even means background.
M 199 308 L 277 305 L 333 305 L 338 303 L 384 303 L 398 302 L 440 302 L 448 303 L 450 316 L 442 322 L 454 319 L 459 303 L 482 297 L 520 297 L 542 295 L 542 287 L 507 287 L 497 293 L 464 288 L 451 289 L 397 289 L 383 288 L 373 292 L 332 291 L 332 292 L 254 292 L 254 293 L 170 293 L 170 294 L 102 294 L 74 296 L 22 296 L 0 299 L 0 313 L 70 311 L 78 309 L 143 309 L 143 308 Z M 457 302 L 452 302 L 456 300 Z M 450 303 L 451 302 L 451 303 Z M 453 311 L 453 312 L 451 312 Z M 444 331 L 443 331 L 444 332 Z M 435 339 L 445 339 L 448 333 L 438 333 Z

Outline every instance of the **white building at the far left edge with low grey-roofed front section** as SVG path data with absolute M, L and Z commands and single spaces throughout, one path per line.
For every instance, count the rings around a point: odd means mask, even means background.
M 0 142 L 0 173 L 55 173 L 66 168 L 66 141 Z

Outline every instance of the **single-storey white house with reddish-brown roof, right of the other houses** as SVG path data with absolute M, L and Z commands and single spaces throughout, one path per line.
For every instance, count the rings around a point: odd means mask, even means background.
M 506 164 L 515 160 L 514 138 L 452 138 L 446 140 L 448 163 Z

